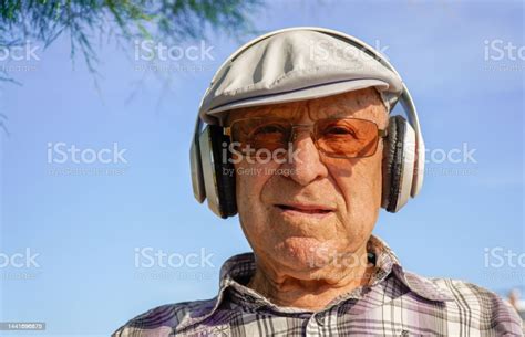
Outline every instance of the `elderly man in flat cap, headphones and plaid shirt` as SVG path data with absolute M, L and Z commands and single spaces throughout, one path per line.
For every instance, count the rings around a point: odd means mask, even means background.
M 424 151 L 416 115 L 389 119 L 400 97 L 413 106 L 379 59 L 303 28 L 223 65 L 200 106 L 209 126 L 197 127 L 194 183 L 217 214 L 238 212 L 254 252 L 224 264 L 215 298 L 154 308 L 114 336 L 522 334 L 495 294 L 406 272 L 372 235 L 381 207 L 395 212 L 418 192 Z M 415 156 L 400 155 L 410 139 Z

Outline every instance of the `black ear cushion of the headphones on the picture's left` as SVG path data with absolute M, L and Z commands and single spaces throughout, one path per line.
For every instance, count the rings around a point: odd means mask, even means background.
M 220 217 L 226 219 L 237 213 L 235 167 L 229 160 L 229 137 L 224 135 L 220 126 L 209 125 L 208 127 L 212 136 L 212 156 L 218 206 Z

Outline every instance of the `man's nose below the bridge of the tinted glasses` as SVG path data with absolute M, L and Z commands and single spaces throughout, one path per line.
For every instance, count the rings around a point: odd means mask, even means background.
M 289 169 L 289 178 L 301 186 L 328 176 L 328 169 L 307 130 L 295 130 L 291 156 L 288 156 L 285 165 Z

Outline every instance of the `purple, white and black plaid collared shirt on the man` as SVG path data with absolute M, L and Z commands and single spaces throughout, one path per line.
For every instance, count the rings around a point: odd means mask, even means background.
M 517 313 L 496 294 L 409 273 L 377 236 L 368 251 L 375 257 L 369 285 L 320 312 L 279 307 L 246 287 L 255 272 L 246 253 L 223 265 L 217 297 L 154 308 L 113 336 L 523 336 Z

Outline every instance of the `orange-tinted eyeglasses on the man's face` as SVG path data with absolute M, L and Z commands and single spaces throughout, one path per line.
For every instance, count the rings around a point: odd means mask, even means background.
M 240 148 L 286 152 L 297 136 L 296 129 L 308 129 L 317 149 L 333 158 L 362 158 L 375 154 L 385 129 L 368 119 L 325 118 L 312 125 L 292 124 L 281 118 L 244 118 L 225 128 L 233 144 Z

